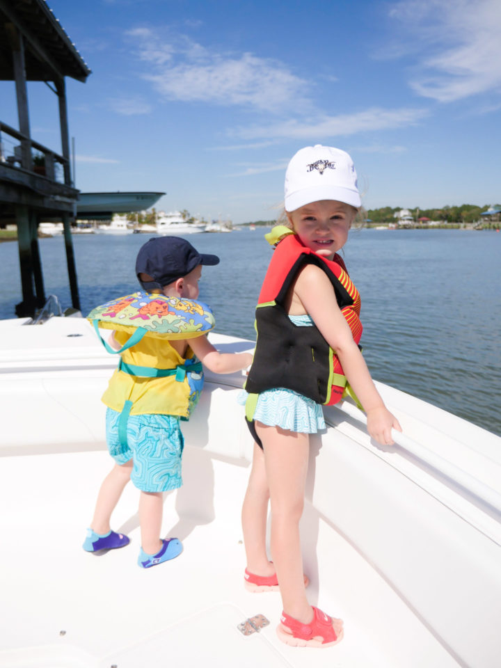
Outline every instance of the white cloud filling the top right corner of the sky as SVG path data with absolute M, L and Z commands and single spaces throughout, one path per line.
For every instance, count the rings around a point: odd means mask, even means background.
M 410 81 L 418 95 L 454 102 L 501 91 L 499 0 L 404 0 L 390 10 L 404 39 L 420 45 L 420 73 Z

